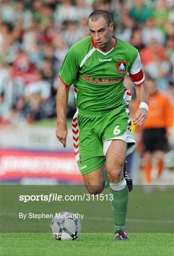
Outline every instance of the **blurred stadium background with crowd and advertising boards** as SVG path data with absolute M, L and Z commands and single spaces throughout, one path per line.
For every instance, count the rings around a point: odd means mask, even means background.
M 56 129 L 58 73 L 68 49 L 89 35 L 87 18 L 108 10 L 114 36 L 137 47 L 146 76 L 174 100 L 173 0 L 2 0 L 0 18 L 1 180 L 22 184 L 83 183 L 75 163 L 70 88 L 64 149 Z M 70 67 L 71 68 L 71 67 Z M 126 76 L 126 87 L 135 91 Z M 134 114 L 134 101 L 130 105 Z M 134 130 L 134 129 L 133 129 Z M 173 184 L 173 135 L 163 182 Z M 135 184 L 143 183 L 141 154 L 128 159 Z M 131 168 L 130 168 L 131 167 Z M 155 175 L 156 170 L 153 170 Z

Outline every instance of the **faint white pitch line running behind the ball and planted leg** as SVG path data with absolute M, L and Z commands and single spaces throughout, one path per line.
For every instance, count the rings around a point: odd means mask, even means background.
M 19 217 L 19 215 L 15 212 L 7 212 L 7 211 L 1 211 L 0 216 L 13 216 L 13 217 Z M 91 219 L 91 220 L 106 220 L 106 221 L 114 221 L 114 218 L 103 218 L 103 217 L 91 217 L 86 216 L 85 219 Z M 127 222 L 144 222 L 144 223 L 165 223 L 165 224 L 173 224 L 174 220 L 169 219 L 126 219 Z

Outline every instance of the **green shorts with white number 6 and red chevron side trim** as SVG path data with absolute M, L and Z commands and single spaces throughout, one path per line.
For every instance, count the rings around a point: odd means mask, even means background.
M 130 113 L 125 105 L 102 113 L 77 110 L 72 132 L 75 158 L 82 174 L 88 174 L 105 163 L 105 155 L 113 139 L 127 143 L 127 155 L 135 148 Z

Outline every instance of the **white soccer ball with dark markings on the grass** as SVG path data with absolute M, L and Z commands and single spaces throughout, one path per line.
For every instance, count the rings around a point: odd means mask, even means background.
M 81 232 L 81 221 L 70 211 L 56 213 L 51 221 L 50 230 L 57 240 L 75 240 Z

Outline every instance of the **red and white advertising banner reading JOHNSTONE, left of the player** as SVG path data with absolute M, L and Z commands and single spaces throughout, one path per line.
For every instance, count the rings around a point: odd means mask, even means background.
M 33 177 L 83 183 L 74 152 L 42 152 L 1 148 L 0 153 L 1 181 Z

